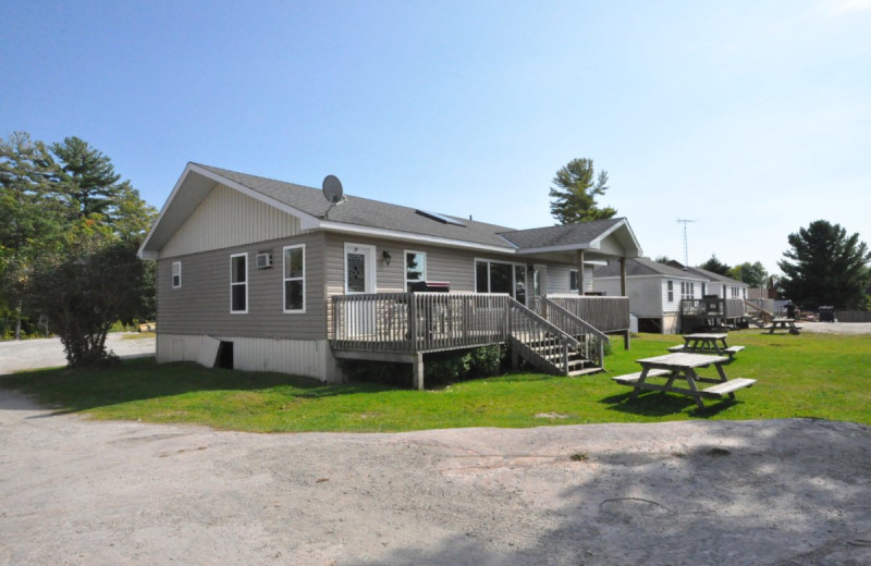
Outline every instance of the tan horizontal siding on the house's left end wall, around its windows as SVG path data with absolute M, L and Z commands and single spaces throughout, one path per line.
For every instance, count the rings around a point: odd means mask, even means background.
M 306 311 L 283 311 L 282 249 L 306 246 Z M 255 256 L 270 251 L 271 269 L 257 269 Z M 230 256 L 248 256 L 248 312 L 230 313 Z M 158 329 L 169 334 L 322 340 L 324 328 L 322 233 L 158 261 Z M 182 287 L 172 288 L 172 262 L 182 262 Z

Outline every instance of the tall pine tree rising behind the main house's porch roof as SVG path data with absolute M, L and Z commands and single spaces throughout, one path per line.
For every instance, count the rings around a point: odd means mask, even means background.
M 596 199 L 608 190 L 608 171 L 594 177 L 592 159 L 573 159 L 557 171 L 550 190 L 553 218 L 561 224 L 613 218 L 617 211 L 599 208 Z

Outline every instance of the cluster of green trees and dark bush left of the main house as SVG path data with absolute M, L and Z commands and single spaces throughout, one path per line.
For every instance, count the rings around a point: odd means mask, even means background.
M 116 321 L 154 317 L 154 266 L 136 250 L 157 216 L 78 137 L 0 139 L 0 331 L 58 334 L 72 365 L 107 357 Z

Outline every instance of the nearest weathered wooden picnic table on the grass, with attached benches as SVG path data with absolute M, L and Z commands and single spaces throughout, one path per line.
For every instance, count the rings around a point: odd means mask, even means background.
M 636 361 L 641 365 L 641 371 L 612 378 L 617 383 L 634 387 L 629 396 L 630 401 L 636 399 L 643 390 L 667 391 L 694 397 L 696 405 L 703 409 L 702 398 L 722 398 L 728 395 L 728 398 L 734 399 L 736 390 L 749 387 L 756 383 L 755 379 L 728 379 L 726 371 L 723 369 L 723 364 L 728 361 L 725 356 L 679 353 L 643 358 Z M 717 377 L 704 378 L 696 372 L 696 368 L 707 368 L 709 366 L 716 368 Z M 651 378 L 654 379 L 651 381 Z M 665 384 L 658 382 L 655 378 L 664 378 Z M 683 386 L 683 383 L 675 385 L 675 381 L 678 381 L 678 383 L 685 381 L 686 386 Z M 699 389 L 699 383 L 713 383 L 713 385 Z

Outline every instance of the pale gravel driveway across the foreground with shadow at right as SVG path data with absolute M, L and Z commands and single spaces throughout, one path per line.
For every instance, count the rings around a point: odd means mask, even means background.
M 249 434 L 0 390 L 0 446 L 2 565 L 871 563 L 852 423 Z

